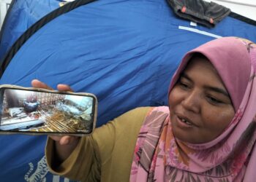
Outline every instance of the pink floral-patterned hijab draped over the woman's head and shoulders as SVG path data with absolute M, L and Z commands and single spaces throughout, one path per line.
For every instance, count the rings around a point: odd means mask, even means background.
M 169 108 L 152 108 L 138 135 L 130 181 L 255 181 L 256 44 L 225 37 L 188 52 L 170 90 L 195 52 L 214 65 L 230 94 L 236 114 L 221 135 L 208 143 L 179 141 Z

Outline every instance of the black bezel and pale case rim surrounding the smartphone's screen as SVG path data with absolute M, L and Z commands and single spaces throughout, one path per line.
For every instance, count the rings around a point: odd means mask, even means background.
M 95 95 L 91 93 L 85 93 L 85 92 L 59 92 L 56 90 L 46 90 L 46 89 L 39 89 L 39 88 L 27 88 L 27 87 L 19 87 L 15 85 L 7 85 L 7 86 L 1 86 L 0 87 L 0 126 L 1 126 L 1 117 L 2 117 L 2 106 L 4 101 L 4 91 L 10 89 L 10 90 L 26 90 L 26 91 L 32 91 L 32 92 L 48 92 L 53 94 L 61 94 L 61 95 L 78 95 L 78 96 L 86 96 L 90 97 L 93 100 L 93 107 L 92 107 L 92 116 L 91 116 L 91 127 L 89 132 L 31 132 L 31 131 L 18 131 L 18 130 L 0 130 L 0 134 L 2 133 L 10 133 L 10 134 L 28 134 L 28 135 L 91 135 L 92 132 L 94 132 L 94 128 L 96 125 L 96 119 L 97 119 L 97 98 Z

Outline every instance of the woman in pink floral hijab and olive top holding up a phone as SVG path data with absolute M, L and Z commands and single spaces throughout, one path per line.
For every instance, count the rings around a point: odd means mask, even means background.
M 169 107 L 136 108 L 85 138 L 51 136 L 50 170 L 80 181 L 254 181 L 255 68 L 252 42 L 209 41 L 184 56 Z

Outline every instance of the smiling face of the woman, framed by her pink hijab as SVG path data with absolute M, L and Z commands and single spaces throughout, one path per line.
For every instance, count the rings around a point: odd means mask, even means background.
M 195 57 L 170 91 L 173 134 L 181 141 L 206 143 L 217 138 L 235 111 L 222 79 L 206 58 Z

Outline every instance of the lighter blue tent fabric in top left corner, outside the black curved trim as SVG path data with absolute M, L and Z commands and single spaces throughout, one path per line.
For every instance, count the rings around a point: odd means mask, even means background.
M 1 31 L 0 60 L 31 25 L 58 7 L 56 0 L 12 0 Z

